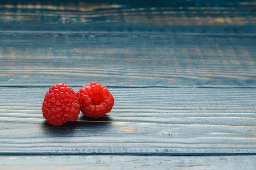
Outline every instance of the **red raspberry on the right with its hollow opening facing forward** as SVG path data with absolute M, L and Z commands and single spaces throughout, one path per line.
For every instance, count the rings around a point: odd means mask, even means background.
M 110 112 L 114 105 L 114 97 L 108 88 L 95 82 L 82 86 L 76 96 L 81 112 L 88 117 L 102 117 Z

